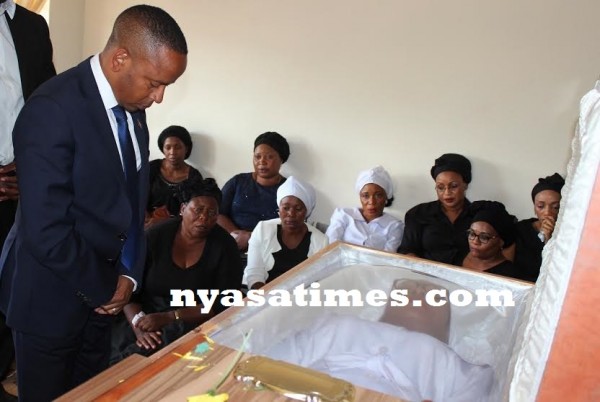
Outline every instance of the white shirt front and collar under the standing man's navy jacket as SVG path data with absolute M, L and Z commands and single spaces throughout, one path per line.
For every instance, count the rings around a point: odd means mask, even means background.
M 121 163 L 123 163 L 123 154 L 121 152 L 121 143 L 119 142 L 119 132 L 117 130 L 117 118 L 112 111 L 112 108 L 118 105 L 117 99 L 113 94 L 112 88 L 108 83 L 108 80 L 104 76 L 102 72 L 102 67 L 100 67 L 100 56 L 98 54 L 94 55 L 90 64 L 92 66 L 92 73 L 94 74 L 94 80 L 96 80 L 96 85 L 98 86 L 98 90 L 100 91 L 100 97 L 102 98 L 102 103 L 104 103 L 104 107 L 106 108 L 106 115 L 108 116 L 108 120 L 110 121 L 110 127 L 112 128 L 113 135 L 115 137 L 115 143 L 117 144 L 117 149 L 119 150 L 119 155 L 121 156 Z M 135 129 L 133 127 L 133 119 L 131 118 L 131 114 L 128 111 L 125 111 L 127 115 L 127 126 L 129 127 L 129 135 L 131 135 L 131 141 L 133 142 L 133 150 L 135 151 L 135 161 L 137 169 L 140 170 L 142 166 L 142 159 L 140 156 L 140 147 L 137 143 L 137 138 L 135 136 Z M 123 164 L 123 170 L 125 170 L 125 165 Z

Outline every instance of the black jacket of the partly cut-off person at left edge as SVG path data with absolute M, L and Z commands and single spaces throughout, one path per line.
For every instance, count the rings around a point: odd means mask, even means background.
M 42 82 L 56 75 L 48 24 L 44 17 L 18 4 L 13 19 L 4 15 L 19 59 L 23 99 L 27 100 Z

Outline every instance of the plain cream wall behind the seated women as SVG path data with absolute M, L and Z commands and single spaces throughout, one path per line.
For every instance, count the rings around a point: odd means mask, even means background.
M 57 52 L 59 66 L 101 50 L 137 2 L 81 3 L 52 0 L 52 22 L 83 16 L 81 35 L 51 25 L 55 41 L 82 41 Z M 320 221 L 358 203 L 355 177 L 376 164 L 395 182 L 389 212 L 403 217 L 434 199 L 429 169 L 444 152 L 473 163 L 470 199 L 531 216 L 537 178 L 566 172 L 579 99 L 600 70 L 597 0 L 148 3 L 176 18 L 190 48 L 186 73 L 148 110 L 153 137 L 187 127 L 190 162 L 223 185 L 252 169 L 258 134 L 280 132 L 292 147 L 284 174 L 317 188 Z

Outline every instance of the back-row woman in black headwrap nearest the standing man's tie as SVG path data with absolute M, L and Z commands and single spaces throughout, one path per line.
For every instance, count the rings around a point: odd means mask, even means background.
M 158 136 L 158 148 L 165 157 L 150 162 L 146 227 L 177 216 L 182 202 L 182 185 L 187 180 L 202 179 L 200 172 L 185 162 L 192 146 L 190 133 L 181 126 L 167 127 Z

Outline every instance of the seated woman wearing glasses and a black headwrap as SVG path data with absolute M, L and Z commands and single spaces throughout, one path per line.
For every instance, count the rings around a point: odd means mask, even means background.
M 515 241 L 516 218 L 496 201 L 476 201 L 471 205 L 473 222 L 467 230 L 469 253 L 462 266 L 474 271 L 520 279 L 516 266 L 502 253 Z

